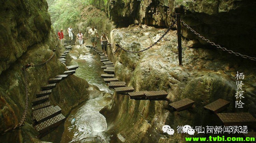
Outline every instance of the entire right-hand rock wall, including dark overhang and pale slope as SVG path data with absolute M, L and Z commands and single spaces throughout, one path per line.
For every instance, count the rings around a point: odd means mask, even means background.
M 154 43 L 175 18 L 175 5 L 183 5 L 182 19 L 197 32 L 227 49 L 255 57 L 255 1 L 169 0 L 110 2 L 110 17 L 119 26 L 111 32 L 111 42 L 139 51 Z M 249 20 L 250 19 L 250 20 Z M 244 22 L 247 21 L 247 22 Z M 137 25 L 134 25 L 137 24 Z M 130 24 L 130 25 L 129 25 Z M 147 24 L 147 25 L 143 25 Z M 128 26 L 129 25 L 129 26 Z M 114 94 L 112 106 L 101 111 L 108 121 L 108 132 L 116 142 L 184 142 L 184 136 L 162 133 L 163 125 L 222 125 L 216 115 L 203 106 L 219 99 L 230 101 L 224 112 L 250 112 L 256 117 L 255 62 L 217 50 L 182 28 L 183 66 L 178 66 L 176 31 L 169 32 L 156 46 L 132 54 L 109 49 L 120 81 L 136 91 L 165 90 L 171 102 L 188 97 L 193 109 L 175 112 L 167 101 L 135 101 L 127 95 Z M 188 48 L 193 47 L 193 48 Z M 235 108 L 237 89 L 234 77 L 243 72 L 244 108 Z M 175 130 L 174 129 L 174 130 Z M 196 135 L 200 137 L 202 135 Z M 132 137 L 132 138 L 131 138 Z

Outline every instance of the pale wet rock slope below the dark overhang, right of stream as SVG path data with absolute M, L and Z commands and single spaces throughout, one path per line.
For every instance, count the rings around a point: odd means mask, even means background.
M 166 29 L 146 25 L 118 28 L 111 32 L 112 43 L 119 43 L 130 51 L 139 51 L 154 43 Z M 193 42 L 193 41 L 192 41 Z M 189 98 L 194 107 L 175 112 L 167 101 L 135 101 L 128 95 L 114 94 L 112 106 L 102 109 L 106 116 L 108 132 L 117 142 L 167 142 L 183 141 L 181 134 L 173 137 L 162 133 L 163 125 L 175 128 L 181 125 L 221 125 L 221 121 L 203 106 L 221 98 L 231 104 L 225 112 L 250 112 L 255 117 L 255 67 L 253 62 L 236 62 L 234 55 L 227 55 L 214 48 L 193 49 L 186 47 L 191 41 L 183 40 L 182 66 L 178 63 L 176 31 L 170 31 L 163 40 L 149 50 L 133 54 L 118 50 L 111 55 L 115 61 L 115 74 L 136 91 L 165 90 L 172 102 Z M 115 50 L 117 47 L 114 46 Z M 112 49 L 109 50 L 109 53 Z M 228 58 L 227 58 L 228 57 Z M 242 63 L 242 61 L 244 61 Z M 235 75 L 243 72 L 244 108 L 235 108 L 237 89 Z M 197 135 L 201 136 L 201 135 Z M 132 138 L 130 138 L 132 137 Z

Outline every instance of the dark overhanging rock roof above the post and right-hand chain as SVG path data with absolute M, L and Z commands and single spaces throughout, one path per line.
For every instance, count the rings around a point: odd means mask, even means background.
M 202 36 L 227 49 L 256 55 L 254 0 L 111 0 L 109 13 L 120 26 L 149 24 L 168 27 L 175 19 L 174 7 L 183 7 L 181 18 Z M 187 39 L 205 41 L 184 26 Z

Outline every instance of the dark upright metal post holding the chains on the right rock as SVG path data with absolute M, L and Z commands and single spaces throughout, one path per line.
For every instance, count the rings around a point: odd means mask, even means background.
M 178 36 L 178 51 L 179 51 L 179 65 L 182 61 L 182 47 L 181 47 L 181 7 L 175 7 L 175 14 L 177 20 L 177 36 Z

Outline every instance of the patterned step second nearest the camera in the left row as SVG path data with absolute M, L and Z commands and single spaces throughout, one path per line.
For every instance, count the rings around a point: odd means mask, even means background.
M 60 114 L 61 109 L 59 106 L 49 106 L 46 107 L 47 109 L 43 108 L 40 109 L 41 112 L 38 112 L 38 114 L 33 114 L 33 118 L 38 122 L 38 123 L 42 123 L 46 120 L 49 120 L 51 118 L 53 118 L 54 116 Z

